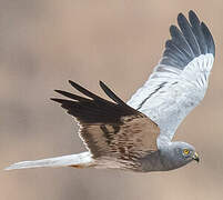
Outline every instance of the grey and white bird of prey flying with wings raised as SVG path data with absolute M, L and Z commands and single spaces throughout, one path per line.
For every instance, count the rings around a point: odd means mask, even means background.
M 170 27 L 162 58 L 149 80 L 125 103 L 103 82 L 108 101 L 73 81 L 85 97 L 62 90 L 52 98 L 79 124 L 88 151 L 79 154 L 18 162 L 9 168 L 112 168 L 138 172 L 168 171 L 199 161 L 195 148 L 172 141 L 181 121 L 204 98 L 215 56 L 211 32 L 193 11 L 180 13 Z

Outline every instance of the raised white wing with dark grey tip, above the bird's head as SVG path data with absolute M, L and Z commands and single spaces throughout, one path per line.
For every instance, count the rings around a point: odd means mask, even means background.
M 189 22 L 190 21 L 190 22 Z M 203 99 L 214 61 L 215 47 L 207 27 L 193 11 L 189 21 L 180 13 L 171 26 L 161 61 L 128 104 L 152 119 L 160 139 L 172 140 L 185 116 Z

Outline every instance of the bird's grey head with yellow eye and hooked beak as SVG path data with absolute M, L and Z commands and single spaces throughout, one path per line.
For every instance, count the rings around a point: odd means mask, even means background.
M 160 149 L 160 159 L 164 170 L 172 170 L 195 160 L 200 161 L 195 148 L 186 142 L 175 141 Z

